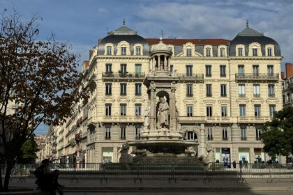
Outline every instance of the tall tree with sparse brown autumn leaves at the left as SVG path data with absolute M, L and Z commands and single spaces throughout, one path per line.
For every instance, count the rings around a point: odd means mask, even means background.
M 65 43 L 37 40 L 38 17 L 24 23 L 14 10 L 0 18 L 0 158 L 6 163 L 0 190 L 8 190 L 20 148 L 40 123 L 59 125 L 81 97 L 77 56 Z M 81 90 L 82 91 L 82 90 Z M 1 173 L 1 170 L 0 170 Z

